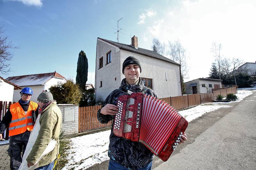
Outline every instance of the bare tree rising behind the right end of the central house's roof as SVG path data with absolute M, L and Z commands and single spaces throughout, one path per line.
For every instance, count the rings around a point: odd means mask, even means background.
M 171 59 L 180 64 L 181 75 L 184 79 L 188 78 L 188 55 L 187 50 L 181 45 L 180 41 L 174 41 L 173 43 L 169 41 L 168 54 Z

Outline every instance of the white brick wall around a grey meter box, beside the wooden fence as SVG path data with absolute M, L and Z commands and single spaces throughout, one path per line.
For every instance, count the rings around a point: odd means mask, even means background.
M 78 105 L 75 104 L 58 104 L 61 113 L 62 113 L 62 125 L 61 130 L 65 131 L 64 135 L 74 135 L 78 133 Z M 64 108 L 65 107 L 74 107 L 75 109 L 75 120 L 65 122 L 64 119 Z

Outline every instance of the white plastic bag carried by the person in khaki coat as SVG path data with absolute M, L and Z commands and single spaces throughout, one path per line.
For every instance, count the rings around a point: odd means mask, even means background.
M 38 115 L 38 117 L 36 119 L 36 123 L 35 123 L 34 128 L 33 128 L 33 131 L 31 132 L 31 134 L 29 136 L 28 144 L 27 144 L 26 150 L 23 154 L 23 158 L 22 158 L 22 162 L 21 162 L 19 170 L 34 170 L 34 169 L 38 168 L 39 167 L 39 165 L 38 165 L 39 160 L 41 160 L 47 153 L 51 152 L 54 149 L 54 147 L 56 146 L 56 140 L 52 139 L 49 142 L 46 149 L 44 150 L 44 152 L 42 153 L 42 155 L 38 158 L 38 160 L 36 162 L 36 165 L 29 166 L 29 168 L 28 168 L 28 166 L 27 166 L 28 162 L 27 162 L 26 159 L 28 157 L 28 154 L 32 150 L 33 145 L 36 142 L 36 138 L 37 138 L 38 132 L 40 130 L 40 124 L 39 124 L 40 116 L 41 116 L 41 114 Z

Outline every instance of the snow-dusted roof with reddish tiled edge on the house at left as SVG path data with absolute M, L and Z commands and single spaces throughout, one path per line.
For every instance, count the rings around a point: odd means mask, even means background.
M 42 74 L 30 74 L 20 75 L 6 78 L 7 81 L 11 81 L 19 86 L 42 86 L 46 81 L 49 81 L 52 77 L 58 77 L 65 79 L 62 75 L 56 71 L 53 73 L 42 73 Z

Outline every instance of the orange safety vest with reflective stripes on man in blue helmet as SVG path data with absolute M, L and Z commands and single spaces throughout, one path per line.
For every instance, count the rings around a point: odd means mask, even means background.
M 12 114 L 12 121 L 9 127 L 10 136 L 24 133 L 27 130 L 33 130 L 34 125 L 32 123 L 32 110 L 36 110 L 37 107 L 37 103 L 30 101 L 27 114 L 25 114 L 25 111 L 22 109 L 19 102 L 10 106 L 10 111 Z

